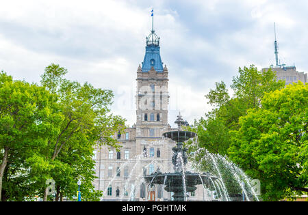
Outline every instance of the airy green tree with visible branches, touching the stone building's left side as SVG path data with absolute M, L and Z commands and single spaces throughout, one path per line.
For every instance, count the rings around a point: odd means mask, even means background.
M 34 175 L 41 175 L 38 181 L 44 187 L 44 201 L 48 178 L 55 180 L 56 197 L 73 199 L 77 180 L 81 179 L 83 197 L 97 200 L 101 195 L 94 192 L 93 149 L 97 145 L 119 147 L 112 135 L 123 130 L 125 120 L 110 114 L 113 93 L 107 89 L 96 89 L 89 83 L 81 85 L 68 81 L 63 76 L 67 70 L 52 63 L 42 75 L 42 85 L 57 94 L 59 112 L 63 121 L 60 130 L 49 139 L 49 145 L 41 150 L 40 158 L 29 158 Z M 87 195 L 88 194 L 88 195 Z

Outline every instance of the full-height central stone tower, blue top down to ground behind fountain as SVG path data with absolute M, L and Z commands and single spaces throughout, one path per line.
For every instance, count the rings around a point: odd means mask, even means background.
M 153 28 L 146 37 L 145 49 L 144 60 L 138 67 L 136 79 L 136 154 L 143 154 L 140 167 L 142 169 L 139 172 L 151 175 L 157 168 L 170 171 L 170 146 L 173 143 L 161 141 L 162 134 L 171 130 L 168 125 L 169 80 L 168 69 L 160 57 L 159 37 Z M 149 197 L 146 196 L 148 192 Z M 140 186 L 140 199 L 155 201 L 155 198 L 162 198 L 161 193 L 162 185 L 150 188 L 142 183 Z

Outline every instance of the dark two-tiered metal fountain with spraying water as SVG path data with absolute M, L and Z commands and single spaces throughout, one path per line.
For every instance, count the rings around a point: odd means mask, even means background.
M 216 188 L 216 180 L 218 177 L 211 173 L 192 173 L 185 170 L 185 165 L 188 162 L 186 147 L 183 143 L 189 139 L 195 138 L 197 135 L 194 132 L 183 131 L 181 126 L 185 125 L 185 121 L 181 117 L 181 113 L 177 116 L 175 124 L 178 125 L 178 130 L 166 132 L 164 137 L 171 139 L 177 143 L 176 147 L 172 148 L 172 164 L 174 173 L 162 173 L 159 169 L 151 175 L 144 175 L 144 180 L 150 184 L 161 184 L 165 186 L 164 190 L 172 192 L 172 201 L 187 201 L 187 192 L 194 192 L 197 185 L 202 185 L 203 188 L 211 185 Z

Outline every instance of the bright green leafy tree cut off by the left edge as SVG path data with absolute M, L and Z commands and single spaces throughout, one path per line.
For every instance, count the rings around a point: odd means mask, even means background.
M 27 178 L 27 156 L 47 145 L 59 128 L 62 118 L 51 111 L 55 96 L 44 87 L 25 81 L 13 81 L 4 72 L 0 74 L 0 199 L 3 175 L 12 181 Z M 12 175 L 10 175 L 12 174 Z M 19 177 L 11 177 L 18 175 Z M 21 186 L 29 186 L 31 180 Z M 11 184 L 12 185 L 12 184 Z M 19 186 L 19 185 L 18 185 Z M 10 195 L 10 184 L 5 184 L 5 195 Z M 29 194 L 31 195 L 31 193 Z M 16 195 L 16 199 L 20 196 Z

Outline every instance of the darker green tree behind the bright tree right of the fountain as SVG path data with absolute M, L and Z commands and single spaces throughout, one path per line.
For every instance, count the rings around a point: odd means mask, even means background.
M 248 109 L 259 108 L 260 100 L 266 92 L 283 88 L 283 81 L 276 81 L 272 70 L 258 71 L 251 65 L 249 68 L 239 68 L 239 74 L 233 77 L 231 88 L 233 98 L 229 96 L 224 82 L 216 83 L 216 89 L 211 89 L 205 96 L 215 108 L 205 114 L 205 118 L 195 121 L 189 128 L 198 134 L 201 147 L 209 152 L 226 155 L 231 143 L 229 132 L 240 128 L 238 120 L 247 114 Z

